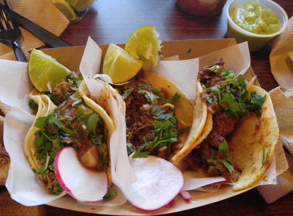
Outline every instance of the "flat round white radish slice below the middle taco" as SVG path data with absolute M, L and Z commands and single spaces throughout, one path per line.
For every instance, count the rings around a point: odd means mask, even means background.
M 126 192 L 128 201 L 138 209 L 154 211 L 168 205 L 182 190 L 181 170 L 169 161 L 156 156 L 132 158 L 130 162 L 138 181 Z

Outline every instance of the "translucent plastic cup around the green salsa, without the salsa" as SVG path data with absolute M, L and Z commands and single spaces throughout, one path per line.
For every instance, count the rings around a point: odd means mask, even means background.
M 251 0 L 256 1 L 256 0 Z M 234 0 L 231 1 L 226 8 L 226 15 L 228 18 L 228 27 L 227 27 L 227 38 L 235 38 L 237 43 L 247 41 L 249 50 L 251 52 L 259 51 L 265 47 L 265 45 L 272 40 L 275 36 L 281 34 L 288 26 L 288 15 L 284 9 L 277 3 L 271 0 L 259 0 L 260 4 L 263 4 L 268 9 L 274 11 L 280 21 L 281 29 L 280 31 L 274 34 L 255 34 L 249 31 L 246 31 L 239 26 L 237 26 L 229 15 L 229 11 L 237 5 L 250 2 L 250 0 Z

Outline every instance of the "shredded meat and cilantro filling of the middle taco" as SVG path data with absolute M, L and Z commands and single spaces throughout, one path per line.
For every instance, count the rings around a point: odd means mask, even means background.
M 126 136 L 128 155 L 134 158 L 155 155 L 170 159 L 178 144 L 178 135 L 186 133 L 174 112 L 180 94 L 169 97 L 167 91 L 153 87 L 143 79 L 116 86 L 126 103 Z

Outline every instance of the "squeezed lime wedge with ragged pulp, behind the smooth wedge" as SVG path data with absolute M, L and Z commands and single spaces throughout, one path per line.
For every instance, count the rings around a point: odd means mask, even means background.
M 160 60 L 161 40 L 160 34 L 155 30 L 154 26 L 142 26 L 135 30 L 128 38 L 125 50 L 129 53 L 136 53 L 142 60 L 143 67 L 153 63 L 157 66 Z

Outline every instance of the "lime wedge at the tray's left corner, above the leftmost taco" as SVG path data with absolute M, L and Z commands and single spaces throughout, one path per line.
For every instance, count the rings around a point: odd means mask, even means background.
M 44 54 L 41 50 L 32 49 L 28 63 L 29 77 L 39 92 L 49 92 L 47 84 L 51 89 L 56 87 L 72 71 L 64 67 L 55 58 Z

